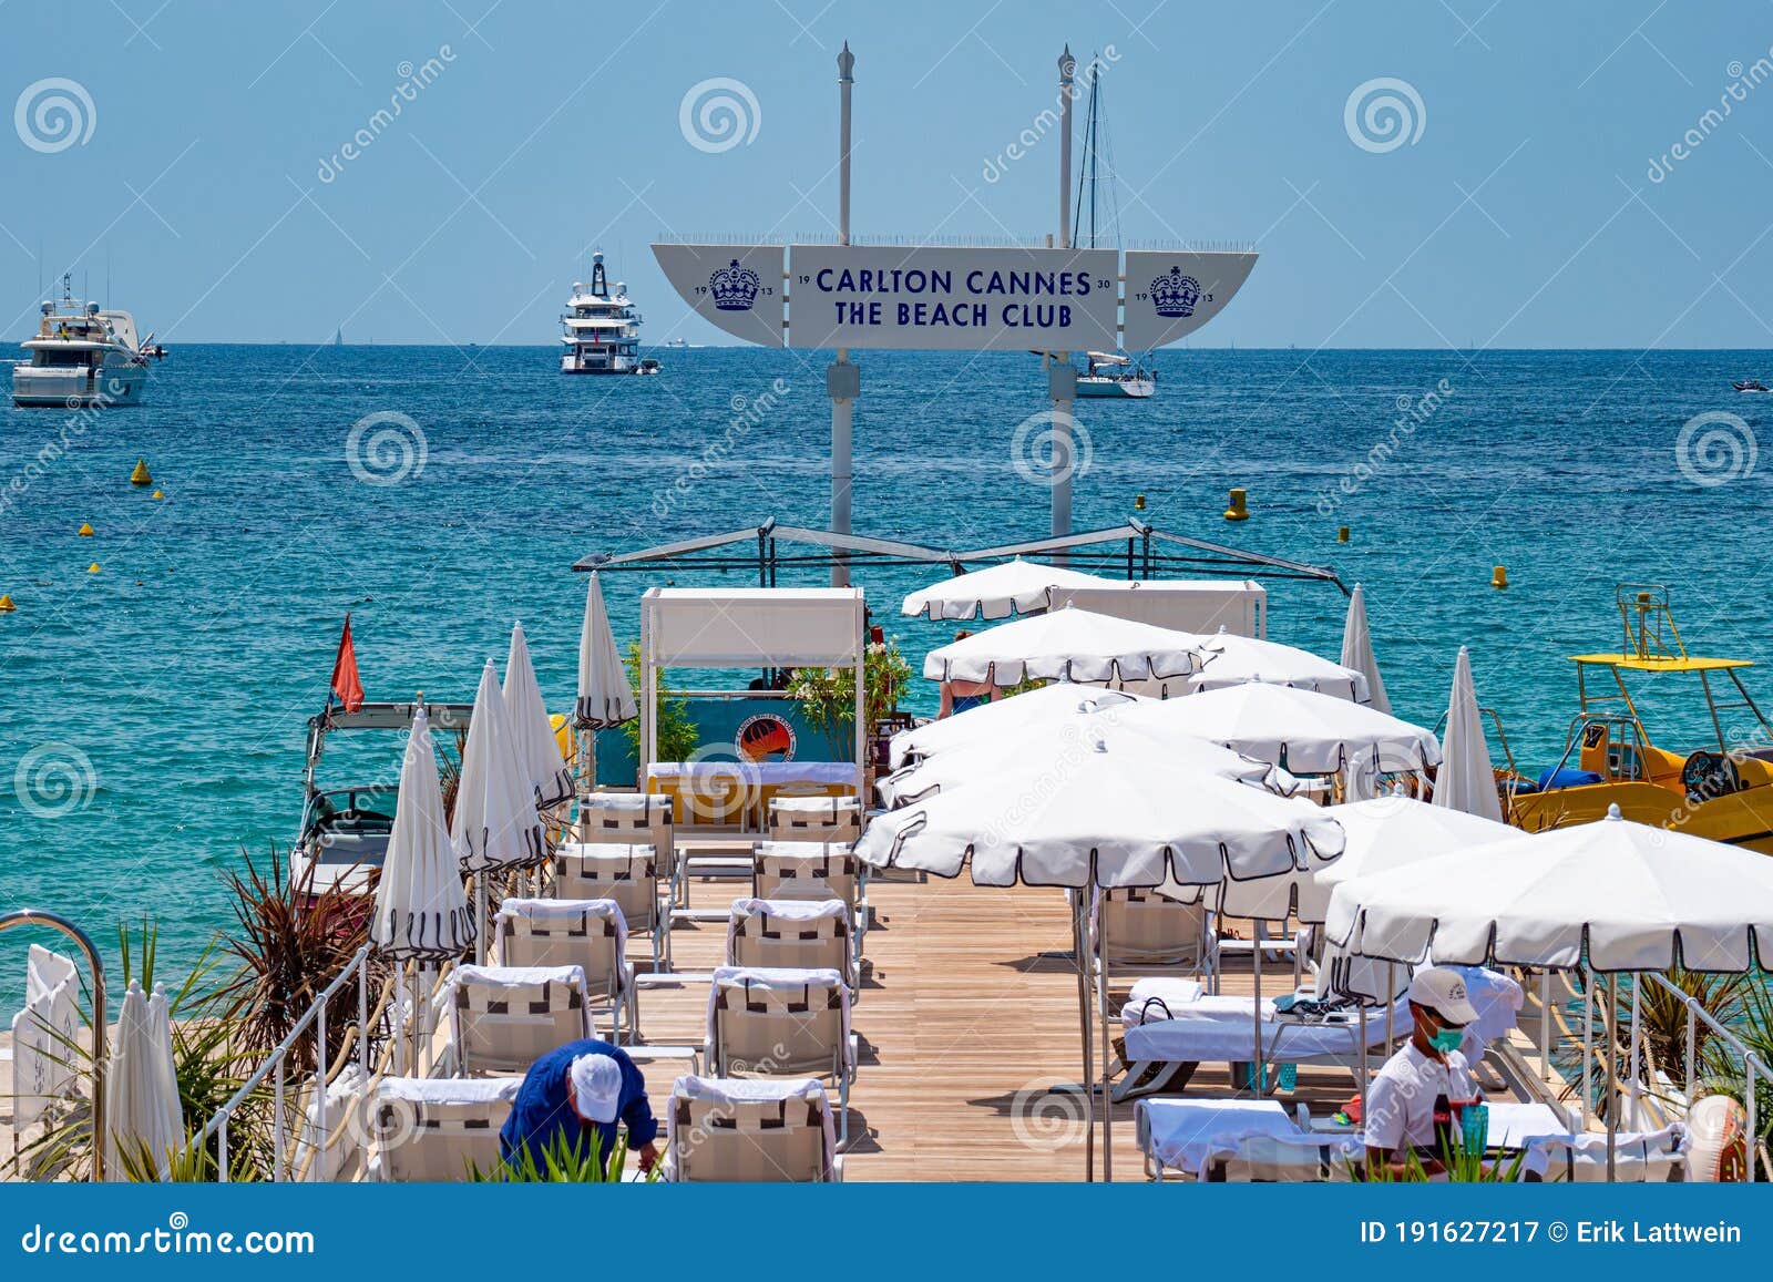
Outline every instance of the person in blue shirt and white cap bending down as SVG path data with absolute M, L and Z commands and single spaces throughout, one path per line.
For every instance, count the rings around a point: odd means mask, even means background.
M 640 1169 L 651 1170 L 660 1156 L 654 1144 L 660 1124 L 640 1069 L 606 1041 L 571 1041 L 530 1064 L 498 1131 L 498 1153 L 509 1167 L 527 1149 L 537 1169 L 544 1169 L 546 1151 L 564 1137 L 587 1154 L 596 1140 L 596 1151 L 608 1160 L 617 1119 L 628 1128 L 628 1145 L 640 1154 Z

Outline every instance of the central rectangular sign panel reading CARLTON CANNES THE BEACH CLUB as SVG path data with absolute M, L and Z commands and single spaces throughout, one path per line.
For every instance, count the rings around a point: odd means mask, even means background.
M 1115 250 L 794 245 L 789 344 L 1113 349 Z

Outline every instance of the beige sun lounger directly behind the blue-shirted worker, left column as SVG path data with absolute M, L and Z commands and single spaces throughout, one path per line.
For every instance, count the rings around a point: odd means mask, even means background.
M 592 1036 L 580 966 L 456 966 L 449 1011 L 463 1076 L 521 1073 L 555 1046 Z

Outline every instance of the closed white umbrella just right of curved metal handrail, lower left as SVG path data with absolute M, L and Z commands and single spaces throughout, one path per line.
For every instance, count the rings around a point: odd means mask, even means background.
M 158 1170 L 183 1147 L 184 1110 L 172 1062 L 167 989 L 154 984 L 149 997 L 129 981 L 105 1069 L 105 1177 L 129 1179 L 126 1160 Z

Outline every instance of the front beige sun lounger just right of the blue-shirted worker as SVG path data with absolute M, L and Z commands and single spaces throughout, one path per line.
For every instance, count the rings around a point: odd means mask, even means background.
M 665 1114 L 665 1179 L 821 1183 L 844 1177 L 819 1082 L 683 1076 Z

